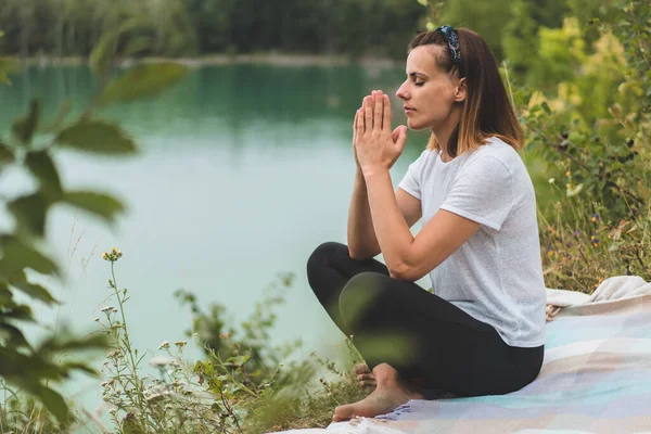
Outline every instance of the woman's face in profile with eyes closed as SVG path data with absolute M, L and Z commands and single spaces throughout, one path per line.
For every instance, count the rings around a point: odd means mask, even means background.
M 463 101 L 459 80 L 439 71 L 434 59 L 438 46 L 417 47 L 407 58 L 407 80 L 396 95 L 405 101 L 407 126 L 412 130 L 439 129 L 450 119 L 454 103 Z

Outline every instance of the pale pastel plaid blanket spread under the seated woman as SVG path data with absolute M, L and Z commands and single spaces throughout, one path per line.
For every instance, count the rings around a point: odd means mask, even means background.
M 375 419 L 293 433 L 651 433 L 651 283 L 605 280 L 592 295 L 548 290 L 542 369 L 501 396 L 410 400 Z

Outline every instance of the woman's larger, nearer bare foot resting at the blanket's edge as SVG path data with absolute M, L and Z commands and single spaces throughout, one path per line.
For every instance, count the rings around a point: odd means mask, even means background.
M 355 404 L 340 406 L 334 409 L 332 420 L 341 422 L 350 420 L 356 416 L 373 418 L 378 414 L 386 414 L 409 399 L 422 399 L 423 396 L 409 392 L 397 381 L 385 381 L 371 392 L 369 396 Z

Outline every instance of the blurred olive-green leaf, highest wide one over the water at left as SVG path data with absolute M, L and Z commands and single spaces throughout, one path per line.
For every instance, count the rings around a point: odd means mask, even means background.
M 99 97 L 99 105 L 155 97 L 179 81 L 188 68 L 177 63 L 137 65 L 114 78 Z

